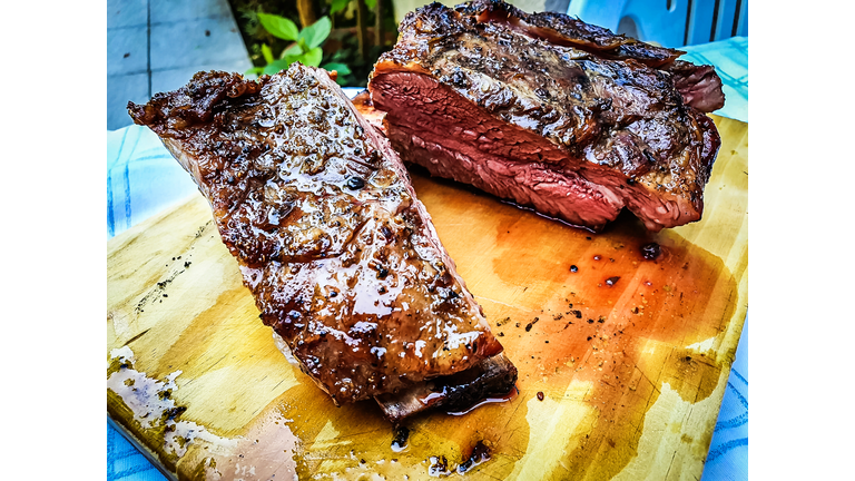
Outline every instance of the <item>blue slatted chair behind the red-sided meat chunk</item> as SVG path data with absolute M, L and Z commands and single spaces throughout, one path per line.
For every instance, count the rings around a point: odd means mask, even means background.
M 668 48 L 748 37 L 748 0 L 570 0 L 567 13 Z

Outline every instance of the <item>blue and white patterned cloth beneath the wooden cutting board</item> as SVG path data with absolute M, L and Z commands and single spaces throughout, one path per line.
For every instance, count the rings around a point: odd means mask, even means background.
M 684 47 L 682 59 L 712 65 L 721 77 L 725 107 L 715 114 L 748 121 L 748 39 Z M 354 96 L 361 89 L 345 89 Z M 107 238 L 122 233 L 196 192 L 196 185 L 148 128 L 107 134 Z M 107 425 L 107 480 L 165 478 L 112 426 Z M 748 479 L 748 321 L 725 391 L 701 481 Z

